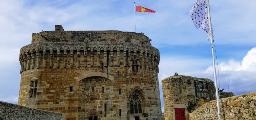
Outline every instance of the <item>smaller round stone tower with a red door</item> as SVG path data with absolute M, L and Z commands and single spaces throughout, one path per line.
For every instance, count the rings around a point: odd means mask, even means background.
M 186 117 L 191 104 L 200 107 L 215 99 L 214 83 L 210 79 L 191 76 L 170 76 L 162 80 L 165 120 Z

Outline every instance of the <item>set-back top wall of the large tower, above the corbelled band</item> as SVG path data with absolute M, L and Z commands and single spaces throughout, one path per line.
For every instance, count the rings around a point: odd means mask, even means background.
M 55 31 L 42 31 L 32 34 L 32 44 L 42 42 L 126 42 L 150 44 L 150 39 L 144 33 L 121 31 L 64 31 L 61 25 L 55 26 Z

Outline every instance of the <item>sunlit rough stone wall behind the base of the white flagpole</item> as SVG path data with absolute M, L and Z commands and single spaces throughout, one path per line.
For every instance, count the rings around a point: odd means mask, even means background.
M 256 92 L 220 99 L 221 120 L 256 120 Z M 216 100 L 189 114 L 190 120 L 217 120 Z

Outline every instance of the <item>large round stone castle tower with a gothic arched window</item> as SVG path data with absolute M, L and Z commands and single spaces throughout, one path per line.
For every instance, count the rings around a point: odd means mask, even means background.
M 20 50 L 18 104 L 65 113 L 67 120 L 161 119 L 159 51 L 143 33 L 32 34 Z

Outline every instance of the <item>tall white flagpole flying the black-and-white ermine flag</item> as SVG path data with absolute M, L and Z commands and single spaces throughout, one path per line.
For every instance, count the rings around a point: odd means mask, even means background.
M 215 85 L 215 92 L 216 92 L 216 101 L 217 101 L 217 109 L 218 109 L 218 119 L 220 118 L 220 108 L 219 108 L 219 91 L 218 91 L 218 83 L 216 78 L 216 67 L 215 67 L 215 58 L 214 58 L 214 48 L 213 48 L 213 28 L 212 28 L 212 21 L 211 21 L 211 15 L 210 15 L 210 3 L 209 0 L 207 0 L 207 7 L 208 7 L 208 22 L 210 27 L 210 33 L 211 33 L 211 46 L 212 46 L 212 54 L 213 54 L 213 76 L 214 76 L 214 85 Z

